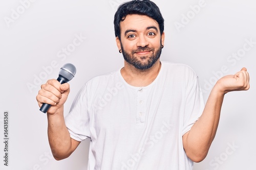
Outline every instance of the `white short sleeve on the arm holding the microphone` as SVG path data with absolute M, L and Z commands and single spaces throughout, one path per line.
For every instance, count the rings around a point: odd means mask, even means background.
M 77 93 L 69 114 L 65 117 L 66 127 L 71 138 L 82 141 L 90 137 L 87 85 L 85 84 Z

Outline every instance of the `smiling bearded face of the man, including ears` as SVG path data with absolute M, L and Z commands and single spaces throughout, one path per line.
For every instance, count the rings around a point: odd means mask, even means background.
M 146 15 L 127 15 L 120 22 L 120 40 L 124 60 L 136 68 L 145 70 L 154 65 L 161 55 L 164 33 L 160 34 L 157 21 Z

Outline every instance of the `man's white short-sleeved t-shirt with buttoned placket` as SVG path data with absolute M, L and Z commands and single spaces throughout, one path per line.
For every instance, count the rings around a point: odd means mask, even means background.
M 87 82 L 66 116 L 73 139 L 91 138 L 88 169 L 190 170 L 182 135 L 204 109 L 194 70 L 161 61 L 146 87 L 125 82 L 120 69 Z

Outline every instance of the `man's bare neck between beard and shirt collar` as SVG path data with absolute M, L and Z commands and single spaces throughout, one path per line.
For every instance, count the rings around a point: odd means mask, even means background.
M 150 85 L 157 78 L 160 68 L 160 59 L 158 59 L 151 68 L 145 70 L 137 69 L 133 65 L 124 61 L 124 67 L 121 69 L 121 75 L 128 84 L 136 87 L 142 87 Z

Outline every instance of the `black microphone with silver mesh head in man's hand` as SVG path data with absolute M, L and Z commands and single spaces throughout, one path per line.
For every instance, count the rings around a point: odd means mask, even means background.
M 60 84 L 67 83 L 75 77 L 75 74 L 76 74 L 76 67 L 73 64 L 71 63 L 64 64 L 59 70 L 59 77 L 57 78 L 57 81 Z M 51 105 L 44 103 L 42 104 L 40 111 L 46 113 L 50 107 Z

